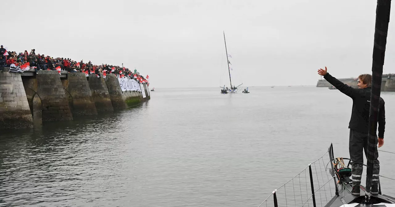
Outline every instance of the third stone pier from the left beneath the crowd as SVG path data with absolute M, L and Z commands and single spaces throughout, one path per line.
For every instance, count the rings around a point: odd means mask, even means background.
M 67 79 L 62 79 L 62 84 L 73 115 L 98 114 L 85 73 L 68 73 Z

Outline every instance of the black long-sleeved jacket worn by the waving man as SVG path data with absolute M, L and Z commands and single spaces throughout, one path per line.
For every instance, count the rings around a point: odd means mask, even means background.
M 335 77 L 327 73 L 324 75 L 325 80 L 335 86 L 340 92 L 352 98 L 352 112 L 348 128 L 361 132 L 369 132 L 369 110 L 371 87 L 364 89 L 352 88 L 337 80 Z M 386 125 L 386 112 L 384 108 L 384 100 L 380 97 L 379 111 L 378 111 L 378 137 L 384 138 L 384 129 Z

